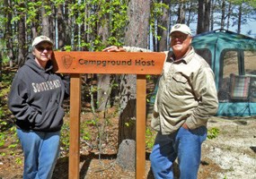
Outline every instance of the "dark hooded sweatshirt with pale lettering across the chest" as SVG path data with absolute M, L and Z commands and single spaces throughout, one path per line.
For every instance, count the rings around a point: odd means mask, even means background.
M 69 95 L 69 78 L 52 72 L 49 60 L 43 69 L 34 55 L 16 72 L 8 99 L 8 107 L 22 130 L 57 132 L 65 115 L 62 103 Z

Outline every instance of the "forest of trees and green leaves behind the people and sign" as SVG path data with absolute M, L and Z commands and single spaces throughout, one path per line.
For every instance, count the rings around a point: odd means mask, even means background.
M 255 0 L 0 0 L 0 3 L 0 147 L 6 140 L 6 129 L 13 129 L 13 116 L 6 107 L 13 73 L 24 64 L 33 38 L 39 35 L 51 38 L 55 50 L 94 52 L 116 45 L 163 51 L 169 49 L 169 32 L 178 22 L 193 27 L 193 34 L 197 35 L 219 28 L 241 33 L 256 21 Z M 255 30 L 248 28 L 244 35 L 256 37 Z M 154 85 L 156 79 L 147 75 L 149 84 Z M 136 75 L 84 74 L 82 85 L 82 100 L 89 103 L 92 123 L 98 127 L 100 151 L 107 123 L 94 120 L 98 119 L 95 114 L 103 112 L 105 116 L 108 107 L 114 105 L 118 106 L 118 143 L 135 140 Z M 148 99 L 152 90 L 147 90 Z M 82 107 L 83 112 L 87 105 Z M 68 109 L 66 101 L 66 113 Z M 82 137 L 86 140 L 88 136 L 84 133 Z M 62 142 L 68 146 L 68 141 Z

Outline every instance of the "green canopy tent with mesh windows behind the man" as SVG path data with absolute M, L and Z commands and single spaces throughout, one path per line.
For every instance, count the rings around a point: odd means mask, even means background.
M 214 30 L 193 37 L 192 45 L 215 72 L 217 115 L 256 115 L 256 39 Z

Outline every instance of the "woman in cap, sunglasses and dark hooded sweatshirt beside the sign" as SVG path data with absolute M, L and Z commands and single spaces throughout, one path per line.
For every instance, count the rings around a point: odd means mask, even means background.
M 24 155 L 24 179 L 49 179 L 59 154 L 69 79 L 53 72 L 53 43 L 46 36 L 32 42 L 32 54 L 13 79 L 8 107 L 15 116 Z

